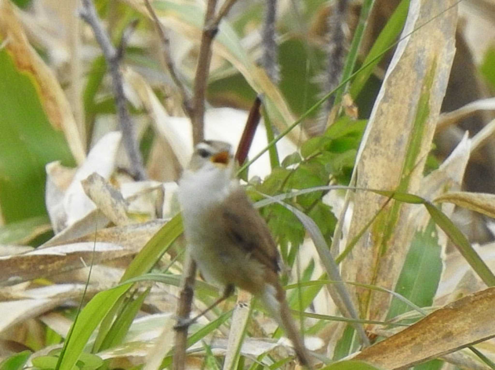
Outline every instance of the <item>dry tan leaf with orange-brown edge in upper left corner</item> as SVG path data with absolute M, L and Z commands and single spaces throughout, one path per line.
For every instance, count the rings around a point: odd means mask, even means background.
M 0 36 L 19 71 L 35 81 L 50 123 L 64 132 L 76 162 L 82 163 L 86 154 L 69 102 L 53 72 L 27 41 L 9 0 L 0 0 Z

